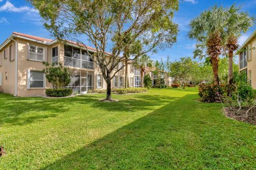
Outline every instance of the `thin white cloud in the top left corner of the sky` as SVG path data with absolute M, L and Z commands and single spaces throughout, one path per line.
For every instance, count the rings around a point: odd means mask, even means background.
M 37 12 L 34 8 L 31 8 L 28 6 L 15 7 L 9 1 L 6 1 L 3 6 L 0 6 L 0 12 L 2 11 L 4 12 Z

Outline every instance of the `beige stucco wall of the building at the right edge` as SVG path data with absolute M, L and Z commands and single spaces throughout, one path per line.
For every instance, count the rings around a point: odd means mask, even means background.
M 251 47 L 256 47 L 256 37 L 252 38 L 246 46 L 251 44 Z M 249 71 L 252 73 L 252 87 L 256 89 L 256 49 L 249 50 L 248 53 L 251 53 L 251 61 L 247 61 L 247 75 Z M 239 56 L 238 56 L 239 57 Z M 244 68 L 246 69 L 246 68 Z

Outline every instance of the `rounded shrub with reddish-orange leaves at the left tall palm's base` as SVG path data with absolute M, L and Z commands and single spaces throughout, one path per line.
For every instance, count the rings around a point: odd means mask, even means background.
M 199 96 L 201 101 L 212 103 L 219 100 L 219 96 L 223 95 L 223 89 L 221 86 L 215 84 L 201 84 L 199 86 Z

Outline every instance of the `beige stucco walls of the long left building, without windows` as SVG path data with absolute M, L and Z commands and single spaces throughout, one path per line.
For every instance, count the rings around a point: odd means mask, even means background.
M 18 75 L 18 80 L 17 80 L 17 96 L 23 97 L 23 96 L 42 96 L 45 95 L 45 89 L 46 88 L 51 88 L 51 84 L 47 82 L 45 79 L 45 87 L 44 88 L 28 88 L 28 71 L 29 70 L 36 70 L 36 71 L 42 71 L 45 66 L 43 65 L 43 62 L 39 61 L 32 61 L 28 60 L 28 46 L 29 44 L 37 45 L 44 47 L 44 61 L 51 63 L 51 57 L 52 57 L 52 48 L 58 46 L 58 61 L 59 62 L 64 62 L 64 44 L 63 43 L 55 43 L 52 46 L 42 44 L 42 43 L 36 43 L 34 41 L 29 41 L 21 38 L 15 38 L 17 40 L 17 47 L 18 47 L 18 67 L 17 67 L 17 75 Z M 15 43 L 12 41 L 13 46 L 15 46 Z M 11 44 L 10 43 L 10 44 Z M 6 45 L 8 48 L 9 45 Z M 13 48 L 15 49 L 15 48 Z M 2 49 L 3 51 L 4 49 Z M 2 58 L 2 66 L 0 66 L 0 73 L 2 73 L 2 86 L 0 86 L 0 92 L 8 93 L 8 94 L 15 94 L 15 61 L 10 62 L 9 58 L 6 60 L 3 59 L 2 56 L 2 51 L 0 51 L 0 55 Z M 15 56 L 15 52 L 13 52 Z M 76 68 L 76 67 L 69 67 L 71 72 L 76 72 L 76 73 L 84 73 L 85 71 L 91 72 L 94 74 L 94 89 L 97 89 L 97 75 L 102 75 L 99 67 L 94 63 L 94 70 L 90 69 L 81 69 L 81 68 Z M 8 73 L 8 78 L 5 80 L 5 72 Z M 114 75 L 114 70 L 111 73 L 111 76 Z M 116 76 L 118 77 L 118 87 L 117 88 L 122 88 L 119 87 L 119 78 L 123 77 L 123 87 L 125 84 L 125 67 L 122 71 L 119 71 L 116 73 Z M 128 80 L 129 80 L 129 87 L 131 87 L 131 82 L 130 78 L 134 79 L 134 72 L 131 73 L 131 64 L 128 65 Z M 99 89 L 106 89 L 107 88 L 107 83 L 102 77 L 102 87 Z M 112 88 L 114 87 L 114 79 L 112 79 L 111 82 Z M 133 87 L 134 87 L 134 81 L 133 81 Z

